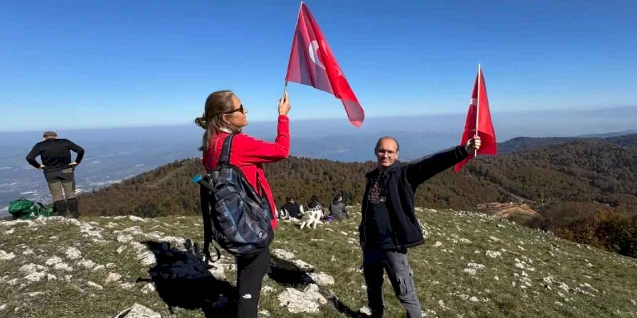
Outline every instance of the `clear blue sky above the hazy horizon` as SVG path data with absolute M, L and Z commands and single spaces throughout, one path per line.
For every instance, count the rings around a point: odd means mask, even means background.
M 466 113 L 478 62 L 492 112 L 636 105 L 634 1 L 306 4 L 368 117 Z M 2 1 L 0 131 L 189 123 L 222 89 L 275 120 L 298 8 Z M 288 91 L 292 120 L 347 121 L 333 96 Z

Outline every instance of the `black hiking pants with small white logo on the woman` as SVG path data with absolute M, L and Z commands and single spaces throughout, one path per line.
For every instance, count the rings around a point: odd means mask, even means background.
M 263 277 L 270 267 L 270 249 L 257 255 L 238 256 L 237 261 L 237 318 L 257 318 Z

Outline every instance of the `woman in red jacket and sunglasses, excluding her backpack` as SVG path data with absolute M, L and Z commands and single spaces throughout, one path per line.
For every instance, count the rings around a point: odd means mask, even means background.
M 252 184 L 258 195 L 266 196 L 269 212 L 272 214 L 272 228 L 276 228 L 276 205 L 272 198 L 268 180 L 263 172 L 264 163 L 278 162 L 287 158 L 290 152 L 290 128 L 287 113 L 290 103 L 287 93 L 278 104 L 278 126 L 275 142 L 261 141 L 246 134 L 234 136 L 230 153 L 230 163 L 235 165 Z M 240 133 L 248 125 L 246 109 L 241 100 L 229 90 L 211 93 L 206 99 L 202 117 L 195 123 L 206 130 L 200 150 L 203 151 L 203 165 L 207 170 L 215 169 L 221 154 L 225 137 Z M 270 251 L 254 256 L 237 257 L 237 317 L 256 318 L 259 294 L 263 277 L 270 264 Z

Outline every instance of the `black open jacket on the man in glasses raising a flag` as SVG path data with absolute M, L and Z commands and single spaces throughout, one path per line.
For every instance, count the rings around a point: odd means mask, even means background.
M 397 249 L 404 249 L 424 243 L 422 230 L 413 212 L 416 188 L 427 179 L 461 162 L 468 155 L 463 146 L 457 146 L 449 151 L 427 157 L 420 162 L 406 165 L 394 163 L 384 172 L 379 172 L 376 168 L 366 174 L 367 185 L 362 198 L 362 221 L 359 226 L 361 246 L 365 247 L 366 240 L 365 221 L 369 188 L 379 173 L 387 174 L 382 179 L 385 182 L 384 188 L 387 193 L 385 204 L 389 211 L 392 240 Z

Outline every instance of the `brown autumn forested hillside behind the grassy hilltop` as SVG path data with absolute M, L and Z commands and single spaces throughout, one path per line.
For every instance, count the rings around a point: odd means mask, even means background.
M 485 202 L 524 203 L 541 216 L 518 221 L 576 242 L 635 256 L 637 148 L 633 145 L 637 135 L 612 137 L 612 141 L 615 143 L 581 139 L 509 155 L 480 156 L 458 174 L 449 169 L 422 184 L 416 193 L 416 205 L 475 209 Z M 301 204 L 317 195 L 327 205 L 336 193 L 349 204 L 359 202 L 364 174 L 374 168 L 373 162 L 341 163 L 290 156 L 265 169 L 277 205 L 282 205 L 287 195 Z M 82 214 L 197 214 L 199 188 L 190 180 L 203 173 L 197 158 L 164 165 L 80 195 Z

